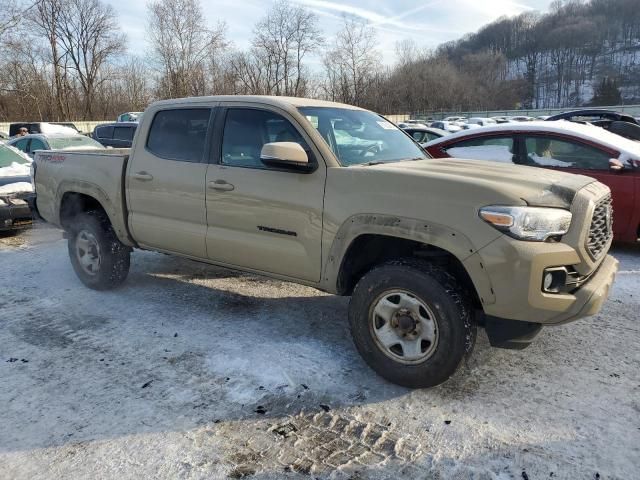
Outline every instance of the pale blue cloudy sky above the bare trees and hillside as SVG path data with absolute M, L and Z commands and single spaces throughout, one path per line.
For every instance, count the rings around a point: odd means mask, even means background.
M 106 0 L 120 17 L 129 39 L 129 51 L 142 55 L 145 40 L 146 1 Z M 383 61 L 394 62 L 397 41 L 411 38 L 433 48 L 473 32 L 502 15 L 546 11 L 551 0 L 290 0 L 314 11 L 327 40 L 340 28 L 343 15 L 368 21 L 377 31 Z M 255 23 L 264 16 L 268 0 L 201 0 L 212 25 L 227 23 L 227 33 L 236 48 L 246 48 Z

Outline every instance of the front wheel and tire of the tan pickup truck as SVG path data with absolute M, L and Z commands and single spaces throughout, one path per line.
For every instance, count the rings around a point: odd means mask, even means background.
M 349 304 L 356 348 L 380 376 L 410 388 L 449 379 L 473 349 L 476 325 L 456 277 L 421 260 L 375 267 Z

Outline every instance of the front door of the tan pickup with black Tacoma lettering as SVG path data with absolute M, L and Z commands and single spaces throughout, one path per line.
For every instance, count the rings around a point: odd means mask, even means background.
M 326 166 L 303 130 L 270 107 L 225 109 L 207 171 L 207 253 L 213 261 L 296 279 L 320 280 Z M 297 142 L 316 169 L 267 167 L 269 142 Z

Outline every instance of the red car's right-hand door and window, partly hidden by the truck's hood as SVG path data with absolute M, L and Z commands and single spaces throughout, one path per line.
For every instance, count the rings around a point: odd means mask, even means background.
M 613 199 L 613 233 L 618 239 L 635 235 L 631 225 L 636 209 L 636 187 L 633 172 L 614 172 L 609 160 L 620 152 L 573 138 L 550 134 L 522 136 L 523 149 L 531 165 L 587 175 L 611 189 Z M 633 232 L 632 232 L 633 230 Z

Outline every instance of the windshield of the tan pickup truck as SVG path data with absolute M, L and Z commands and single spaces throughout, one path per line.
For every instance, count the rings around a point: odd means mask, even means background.
M 365 110 L 301 107 L 342 166 L 423 160 L 427 154 L 393 123 Z

